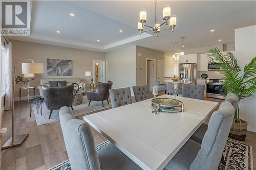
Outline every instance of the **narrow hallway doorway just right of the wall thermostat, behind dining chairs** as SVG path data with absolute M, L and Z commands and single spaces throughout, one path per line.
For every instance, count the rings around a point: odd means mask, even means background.
M 151 87 L 154 86 L 156 81 L 156 60 L 146 58 L 146 84 L 148 90 L 152 91 Z

